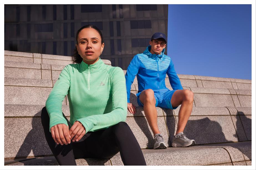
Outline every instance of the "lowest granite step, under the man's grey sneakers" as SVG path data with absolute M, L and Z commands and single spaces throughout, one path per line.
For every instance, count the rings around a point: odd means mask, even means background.
M 251 142 L 142 150 L 147 165 L 251 165 Z M 77 165 L 123 165 L 120 153 L 109 159 L 77 159 Z M 5 165 L 59 165 L 54 156 L 5 159 Z

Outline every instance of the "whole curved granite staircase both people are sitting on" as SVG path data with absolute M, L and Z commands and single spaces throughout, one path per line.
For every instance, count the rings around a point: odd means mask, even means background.
M 40 113 L 61 70 L 71 57 L 4 51 L 4 162 L 5 165 L 58 165 L 44 137 Z M 109 60 L 103 60 L 111 65 Z M 124 74 L 126 70 L 124 70 Z M 153 133 L 138 107 L 135 78 L 127 113 L 147 165 L 251 165 L 251 80 L 178 75 L 184 89 L 194 93 L 194 107 L 184 133 L 195 146 L 173 148 L 179 107 L 157 107 L 158 126 L 169 147 L 153 150 Z M 168 77 L 166 86 L 171 89 Z M 62 104 L 69 118 L 67 97 Z M 15 140 L 13 140 L 13 138 Z M 78 165 L 123 165 L 120 154 L 110 159 L 76 160 Z

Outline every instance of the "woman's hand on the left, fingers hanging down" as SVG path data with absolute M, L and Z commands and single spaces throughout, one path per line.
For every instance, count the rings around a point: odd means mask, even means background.
M 52 139 L 56 144 L 70 144 L 69 126 L 61 123 L 51 127 Z

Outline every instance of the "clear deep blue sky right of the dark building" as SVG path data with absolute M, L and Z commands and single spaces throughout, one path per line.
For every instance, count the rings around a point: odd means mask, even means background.
M 251 5 L 169 5 L 177 74 L 252 79 Z

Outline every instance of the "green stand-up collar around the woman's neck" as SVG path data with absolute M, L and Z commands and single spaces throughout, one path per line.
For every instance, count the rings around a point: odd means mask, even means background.
M 106 65 L 99 58 L 99 60 L 96 63 L 90 64 L 90 65 L 82 61 L 80 63 L 80 66 L 79 66 L 79 71 L 80 72 L 85 71 L 86 73 L 88 73 L 89 70 L 90 70 L 90 73 L 94 73 L 94 72 L 97 72 L 97 71 L 100 71 L 100 70 L 104 70 L 105 68 L 106 68 Z

